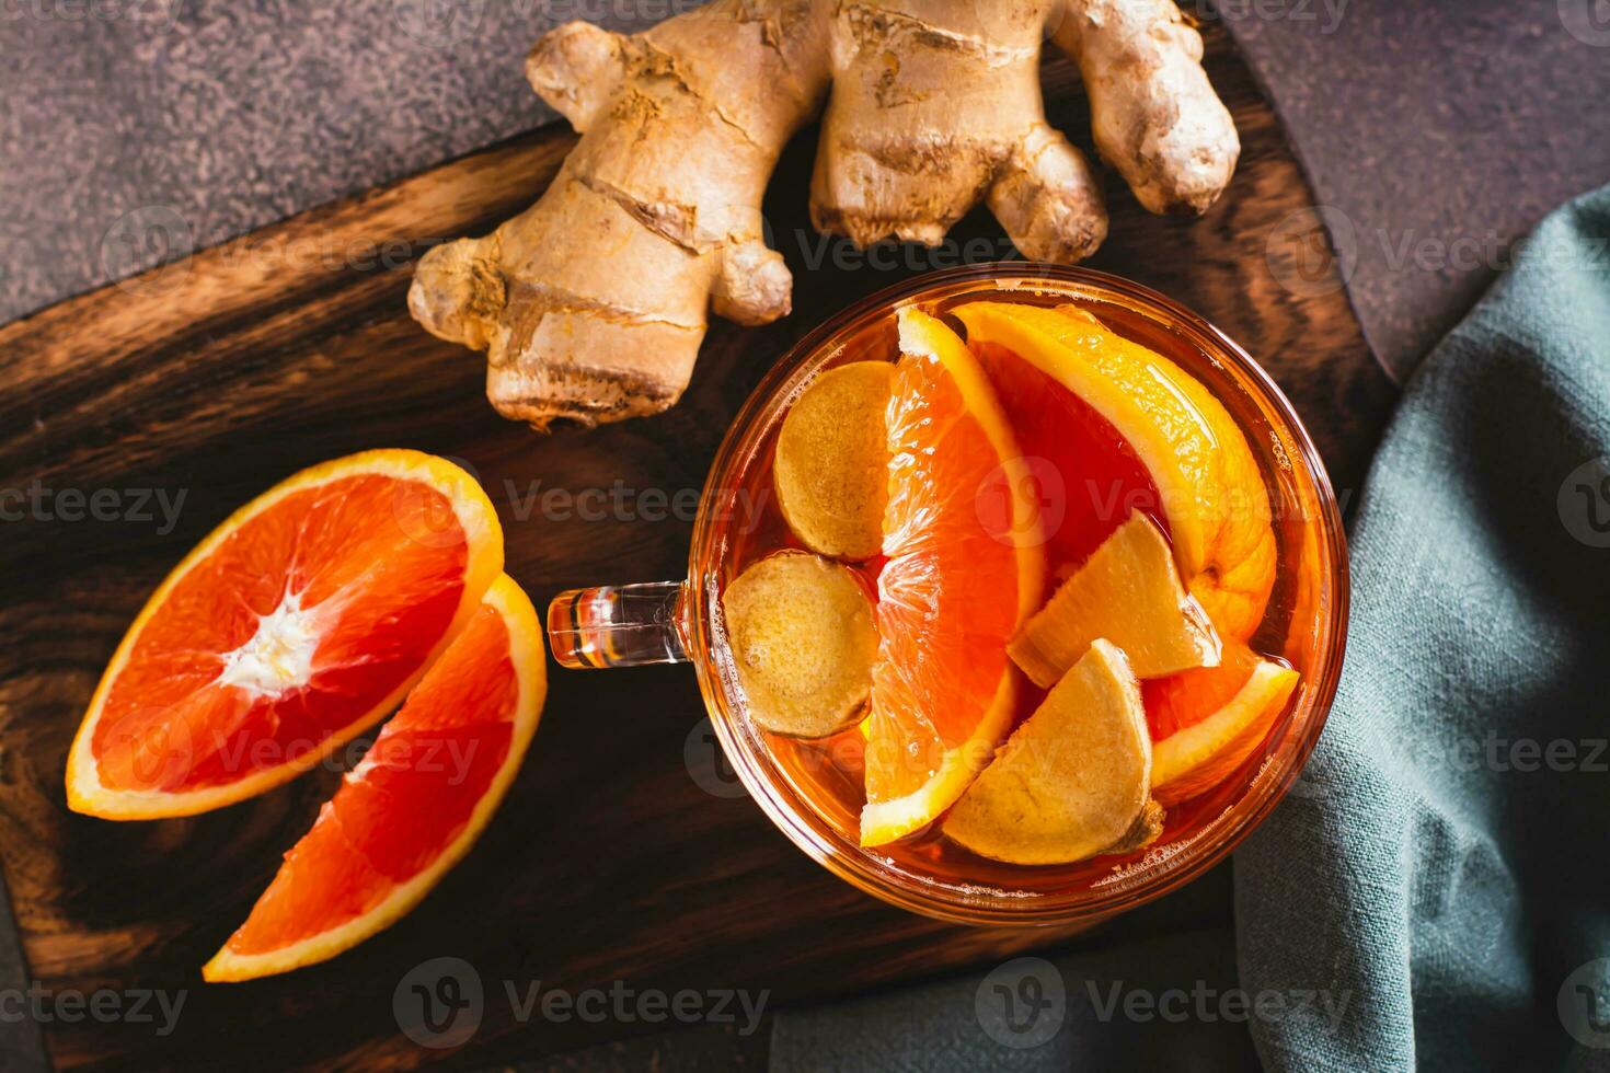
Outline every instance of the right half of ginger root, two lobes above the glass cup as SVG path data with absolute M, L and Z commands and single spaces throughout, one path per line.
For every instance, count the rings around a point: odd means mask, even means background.
M 1024 256 L 1106 238 L 1101 187 L 1045 122 L 1040 43 L 1079 64 L 1101 156 L 1153 212 L 1203 212 L 1241 143 L 1174 0 L 836 0 L 818 230 L 935 245 L 984 198 Z

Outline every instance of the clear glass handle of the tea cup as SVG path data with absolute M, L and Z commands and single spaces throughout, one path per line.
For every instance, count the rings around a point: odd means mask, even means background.
M 547 605 L 547 643 L 567 668 L 683 663 L 686 582 L 570 589 Z

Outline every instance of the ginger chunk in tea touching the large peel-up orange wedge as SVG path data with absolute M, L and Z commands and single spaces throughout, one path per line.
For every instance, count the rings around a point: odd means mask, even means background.
M 1096 637 L 1122 648 L 1143 679 L 1219 664 L 1219 634 L 1180 584 L 1169 542 L 1140 512 L 1022 624 L 1006 652 L 1050 689 Z

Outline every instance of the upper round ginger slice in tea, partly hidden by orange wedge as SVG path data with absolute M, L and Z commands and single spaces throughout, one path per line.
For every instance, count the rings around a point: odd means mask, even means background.
M 889 362 L 829 368 L 782 418 L 773 462 L 778 507 L 813 552 L 863 560 L 882 545 L 892 370 Z

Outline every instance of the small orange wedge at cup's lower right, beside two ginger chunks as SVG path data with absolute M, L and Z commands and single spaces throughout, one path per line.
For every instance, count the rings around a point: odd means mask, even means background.
M 1156 798 L 1175 804 L 1224 782 L 1262 743 L 1298 677 L 1232 643 L 1217 668 L 1143 682 Z

